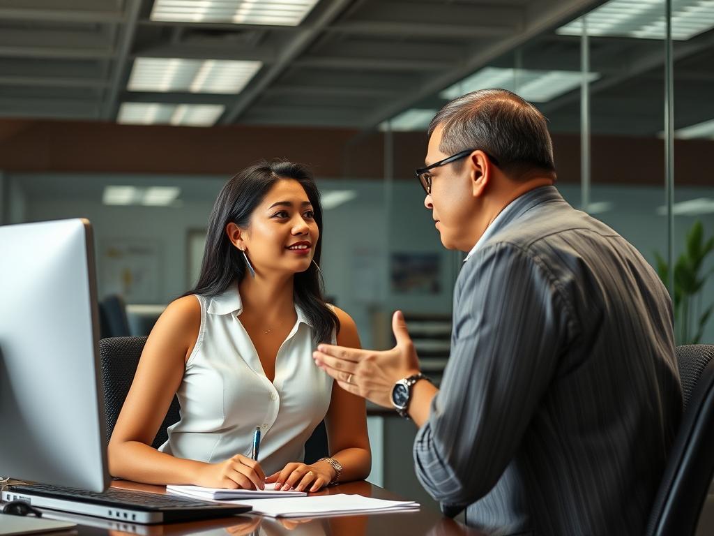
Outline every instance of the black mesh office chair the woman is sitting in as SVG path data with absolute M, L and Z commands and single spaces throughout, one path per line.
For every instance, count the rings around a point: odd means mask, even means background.
M 101 358 L 101 377 L 104 381 L 104 412 L 106 415 L 106 438 L 109 440 L 114 425 L 119 418 L 119 412 L 129 394 L 131 382 L 139 365 L 141 352 L 144 351 L 146 337 L 110 337 L 99 341 L 99 356 Z M 163 445 L 169 438 L 166 429 L 178 422 L 178 399 L 174 395 L 164 422 L 151 444 L 154 448 Z M 325 423 L 321 422 L 305 443 L 305 463 L 313 463 L 321 457 L 328 456 L 328 442 Z

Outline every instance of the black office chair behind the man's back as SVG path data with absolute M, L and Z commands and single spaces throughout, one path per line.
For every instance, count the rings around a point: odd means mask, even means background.
M 714 346 L 676 349 L 685 412 L 648 523 L 648 536 L 691 536 L 714 475 Z

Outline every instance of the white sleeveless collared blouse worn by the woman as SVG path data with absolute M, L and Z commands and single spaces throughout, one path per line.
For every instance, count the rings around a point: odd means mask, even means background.
M 330 406 L 333 384 L 313 362 L 316 345 L 305 314 L 295 307 L 298 319 L 278 350 L 271 382 L 239 319 L 238 287 L 196 298 L 201 329 L 176 392 L 181 420 L 169 427 L 169 440 L 159 450 L 209 463 L 250 456 L 259 426 L 258 461 L 266 475 L 303 461 L 305 442 Z M 334 339 L 333 332 L 333 344 Z

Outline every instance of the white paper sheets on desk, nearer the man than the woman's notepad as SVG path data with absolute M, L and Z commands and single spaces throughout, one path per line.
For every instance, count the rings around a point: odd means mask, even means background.
M 251 505 L 255 514 L 269 517 L 318 517 L 324 515 L 403 512 L 419 509 L 418 502 L 373 499 L 362 495 L 318 495 L 281 499 L 241 500 Z

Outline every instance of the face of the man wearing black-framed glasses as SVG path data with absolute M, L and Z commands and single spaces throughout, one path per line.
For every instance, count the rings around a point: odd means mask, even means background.
M 427 166 L 451 156 L 439 149 L 442 131 L 442 126 L 437 126 L 429 138 L 424 161 Z M 424 206 L 431 209 L 431 217 L 446 249 L 468 252 L 473 247 L 471 227 L 476 207 L 471 188 L 471 169 L 467 158 L 431 170 L 431 194 L 424 199 Z

